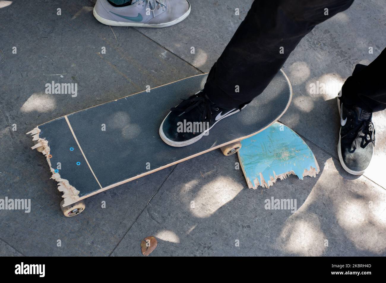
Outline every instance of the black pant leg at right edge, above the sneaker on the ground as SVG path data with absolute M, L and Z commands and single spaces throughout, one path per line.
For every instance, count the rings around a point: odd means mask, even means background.
M 357 64 L 352 76 L 342 87 L 340 101 L 347 106 L 359 106 L 369 112 L 386 109 L 386 48 L 368 66 Z

